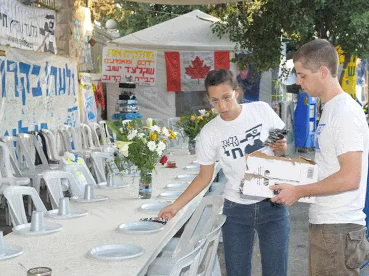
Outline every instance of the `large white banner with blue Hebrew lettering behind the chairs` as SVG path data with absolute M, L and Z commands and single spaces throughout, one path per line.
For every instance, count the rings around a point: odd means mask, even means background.
M 0 57 L 0 136 L 79 124 L 77 66 L 11 48 Z

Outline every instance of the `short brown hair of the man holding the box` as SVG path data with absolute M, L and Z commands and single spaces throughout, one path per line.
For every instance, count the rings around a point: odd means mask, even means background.
M 303 44 L 294 54 L 294 62 L 300 61 L 302 66 L 314 73 L 320 66 L 329 68 L 332 77 L 337 77 L 338 53 L 336 48 L 326 39 L 315 39 Z

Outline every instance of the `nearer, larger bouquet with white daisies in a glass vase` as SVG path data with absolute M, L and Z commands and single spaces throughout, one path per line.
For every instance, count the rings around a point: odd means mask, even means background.
M 162 157 L 170 140 L 176 139 L 174 132 L 159 127 L 151 118 L 144 126 L 140 119 L 122 125 L 121 122 L 107 122 L 108 127 L 117 135 L 120 163 L 134 164 L 140 171 L 139 198 L 151 198 L 152 171 Z

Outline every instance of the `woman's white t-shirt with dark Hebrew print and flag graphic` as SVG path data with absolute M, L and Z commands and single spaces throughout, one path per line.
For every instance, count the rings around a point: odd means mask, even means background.
M 269 104 L 253 102 L 242 104 L 242 111 L 233 121 L 224 121 L 217 116 L 200 132 L 197 143 L 197 161 L 201 165 L 212 165 L 219 158 L 227 182 L 224 196 L 233 202 L 253 204 L 264 197 L 241 195 L 239 187 L 246 170 L 245 153 L 263 148 L 269 131 L 283 129 L 284 123 Z M 273 155 L 269 147 L 263 151 Z

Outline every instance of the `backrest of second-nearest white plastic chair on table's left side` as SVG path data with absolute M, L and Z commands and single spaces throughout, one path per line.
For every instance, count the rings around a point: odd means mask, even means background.
M 63 179 L 66 179 L 68 181 L 61 181 Z M 59 199 L 61 197 L 64 197 L 63 191 L 69 189 L 71 193 L 74 194 L 75 188 L 77 187 L 77 182 L 74 179 L 73 175 L 64 171 L 45 171 L 44 180 L 53 209 L 59 208 Z M 63 186 L 66 186 L 66 189 L 63 189 Z M 77 193 L 79 193 L 78 191 Z

